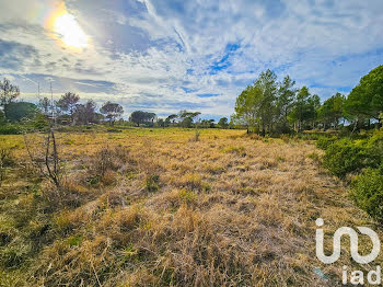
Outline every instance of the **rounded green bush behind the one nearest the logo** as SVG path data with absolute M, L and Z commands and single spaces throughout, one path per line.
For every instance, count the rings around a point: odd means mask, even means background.
M 345 138 L 328 146 L 323 164 L 332 174 L 344 179 L 347 173 L 357 172 L 365 167 L 365 148 Z

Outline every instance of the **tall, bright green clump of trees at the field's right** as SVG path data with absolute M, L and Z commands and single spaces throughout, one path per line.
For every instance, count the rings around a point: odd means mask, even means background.
M 349 123 L 352 129 L 380 127 L 383 119 L 383 66 L 362 77 L 348 96 L 337 92 L 323 104 L 307 87 L 295 88 L 289 76 L 278 81 L 271 70 L 259 74 L 235 102 L 236 124 L 248 133 L 283 134 L 304 129 L 338 128 Z

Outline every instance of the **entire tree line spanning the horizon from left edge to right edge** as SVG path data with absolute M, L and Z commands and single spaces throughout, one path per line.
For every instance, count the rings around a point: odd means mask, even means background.
M 80 103 L 80 96 L 67 92 L 57 101 L 40 99 L 37 105 L 18 102 L 19 87 L 8 79 L 0 81 L 0 123 L 20 122 L 36 113 L 61 125 L 98 124 L 105 120 L 111 126 L 121 118 L 124 108 L 118 103 L 105 102 L 100 110 L 93 100 Z M 135 111 L 128 124 L 158 127 L 240 127 L 248 133 L 286 134 L 307 129 L 338 129 L 346 124 L 352 130 L 380 127 L 383 119 L 383 66 L 379 66 L 361 78 L 359 84 L 348 96 L 337 92 L 324 103 L 307 87 L 295 87 L 289 76 L 278 81 L 276 73 L 266 70 L 253 84 L 246 87 L 237 96 L 235 113 L 219 119 L 201 119 L 200 112 L 179 111 L 165 118 L 155 113 Z

